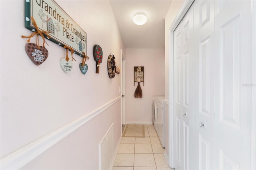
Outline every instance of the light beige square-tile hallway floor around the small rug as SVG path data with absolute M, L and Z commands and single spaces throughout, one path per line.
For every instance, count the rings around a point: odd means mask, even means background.
M 145 125 L 145 138 L 122 137 L 112 170 L 173 170 L 165 158 L 153 125 Z

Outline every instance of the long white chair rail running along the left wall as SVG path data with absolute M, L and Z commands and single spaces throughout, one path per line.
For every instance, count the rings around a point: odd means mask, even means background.
M 112 101 L 98 107 L 97 109 L 86 113 L 84 116 L 54 130 L 53 132 L 46 134 L 45 136 L 42 136 L 34 142 L 5 156 L 1 159 L 0 169 L 22 168 L 23 166 L 28 164 L 28 162 L 35 159 L 37 156 L 48 150 L 50 147 L 62 140 L 64 137 L 68 136 L 68 134 L 74 132 L 74 130 L 99 115 L 102 111 L 106 110 L 108 107 L 110 107 L 120 99 L 121 96 L 116 97 L 116 99 L 113 99 Z

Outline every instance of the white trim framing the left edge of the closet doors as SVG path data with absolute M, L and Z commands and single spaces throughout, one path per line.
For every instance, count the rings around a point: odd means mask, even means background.
M 174 30 L 186 15 L 194 0 L 185 0 L 169 28 L 169 166 L 174 168 Z

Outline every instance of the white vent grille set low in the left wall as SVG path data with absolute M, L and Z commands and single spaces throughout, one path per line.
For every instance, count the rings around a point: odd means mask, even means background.
M 100 142 L 100 170 L 109 170 L 114 156 L 114 123 Z

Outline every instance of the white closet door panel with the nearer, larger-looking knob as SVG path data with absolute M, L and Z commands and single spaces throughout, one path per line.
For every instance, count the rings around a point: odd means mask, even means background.
M 214 1 L 194 2 L 194 167 L 214 169 Z

